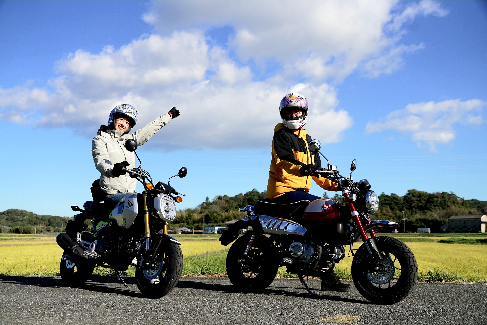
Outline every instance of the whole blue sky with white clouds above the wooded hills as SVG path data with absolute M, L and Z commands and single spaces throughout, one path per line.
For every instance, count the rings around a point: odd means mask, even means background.
M 293 24 L 279 1 L 219 3 L 1 1 L 0 211 L 73 215 L 99 175 L 91 139 L 125 102 L 140 126 L 181 109 L 138 150 L 154 179 L 188 168 L 180 208 L 263 191 L 291 90 L 325 156 L 339 170 L 356 158 L 376 192 L 487 199 L 481 1 L 309 1 Z

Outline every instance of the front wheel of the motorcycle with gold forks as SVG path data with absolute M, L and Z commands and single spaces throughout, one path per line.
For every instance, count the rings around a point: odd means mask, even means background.
M 145 297 L 161 298 L 171 292 L 179 281 L 183 271 L 183 252 L 176 243 L 162 243 L 153 260 L 155 263 L 151 269 L 137 266 L 135 279 Z

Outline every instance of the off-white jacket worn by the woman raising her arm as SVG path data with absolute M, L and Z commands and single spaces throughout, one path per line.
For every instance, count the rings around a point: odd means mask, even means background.
M 125 149 L 125 142 L 134 139 L 139 145 L 145 144 L 154 134 L 171 120 L 169 113 L 159 116 L 148 125 L 132 134 L 124 134 L 120 130 L 103 130 L 100 127 L 98 135 L 93 138 L 92 155 L 96 169 L 100 172 L 100 186 L 107 194 L 135 192 L 137 180 L 129 174 L 114 177 L 113 165 L 117 162 L 129 162 L 127 168 L 137 167 L 135 155 Z

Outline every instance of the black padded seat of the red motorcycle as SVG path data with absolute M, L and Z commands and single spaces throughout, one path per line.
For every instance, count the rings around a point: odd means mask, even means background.
M 258 215 L 279 217 L 285 219 L 298 219 L 302 216 L 309 200 L 300 200 L 293 203 L 273 203 L 269 199 L 257 199 L 254 212 Z

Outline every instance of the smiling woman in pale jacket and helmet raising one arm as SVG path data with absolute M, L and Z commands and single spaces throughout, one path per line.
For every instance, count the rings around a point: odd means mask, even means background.
M 116 205 L 127 192 L 135 192 L 137 180 L 122 170 L 122 167 L 135 167 L 133 152 L 125 149 L 129 139 L 145 144 L 154 134 L 179 116 L 179 110 L 173 107 L 168 113 L 159 116 L 146 126 L 129 134 L 137 123 L 137 110 L 123 104 L 112 109 L 108 126 L 100 126 L 98 135 L 93 138 L 92 155 L 96 169 L 100 172 L 100 187 L 105 194 L 104 201 Z

